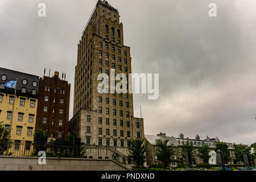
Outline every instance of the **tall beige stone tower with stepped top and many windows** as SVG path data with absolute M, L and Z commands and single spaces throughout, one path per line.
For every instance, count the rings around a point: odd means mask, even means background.
M 98 1 L 78 44 L 69 131 L 75 130 L 86 144 L 114 146 L 127 154 L 129 140 L 144 138 L 143 119 L 134 118 L 133 94 L 98 93 L 98 75 L 110 76 L 111 69 L 128 77 L 130 47 L 123 43 L 118 10 Z

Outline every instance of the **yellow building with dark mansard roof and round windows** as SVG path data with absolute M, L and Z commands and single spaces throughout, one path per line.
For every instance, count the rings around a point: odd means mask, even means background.
M 16 78 L 18 81 L 14 96 L 15 89 L 7 88 L 5 84 Z M 14 140 L 14 144 L 9 152 L 14 155 L 31 153 L 38 105 L 38 86 L 39 76 L 0 68 L 0 122 L 6 129 L 10 130 L 11 126 L 10 139 Z

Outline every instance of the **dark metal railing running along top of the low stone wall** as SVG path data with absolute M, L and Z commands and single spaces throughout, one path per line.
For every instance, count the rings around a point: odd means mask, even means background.
M 18 140 L 9 140 L 9 146 L 7 151 L 7 140 L 0 141 L 0 155 L 38 156 L 39 151 L 45 151 L 47 157 L 109 159 L 129 169 L 138 168 L 133 160 L 110 146 L 81 145 L 72 141 L 47 143 Z

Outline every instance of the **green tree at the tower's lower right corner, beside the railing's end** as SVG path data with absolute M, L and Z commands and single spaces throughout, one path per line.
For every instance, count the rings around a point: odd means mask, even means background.
M 143 163 L 146 162 L 146 145 L 144 140 L 141 138 L 132 139 L 130 141 L 130 146 L 128 147 L 129 155 L 128 157 L 137 164 L 139 167 L 143 167 Z

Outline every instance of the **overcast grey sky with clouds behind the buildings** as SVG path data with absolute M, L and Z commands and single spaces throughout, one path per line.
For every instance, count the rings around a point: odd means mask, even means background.
M 38 3 L 47 16 L 38 16 Z M 251 144 L 256 139 L 256 1 L 109 0 L 123 22 L 133 73 L 159 73 L 159 98 L 134 95 L 145 134 Z M 208 15 L 209 3 L 217 17 Z M 70 116 L 77 43 L 97 0 L 1 0 L 0 67 L 67 73 Z

